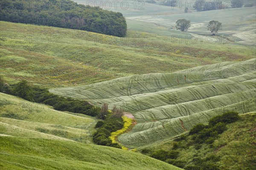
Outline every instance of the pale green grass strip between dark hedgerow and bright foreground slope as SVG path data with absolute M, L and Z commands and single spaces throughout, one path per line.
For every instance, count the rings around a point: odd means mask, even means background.
M 96 119 L 83 114 L 53 110 L 51 106 L 28 102 L 0 93 L 1 133 L 20 137 L 60 137 L 91 142 Z

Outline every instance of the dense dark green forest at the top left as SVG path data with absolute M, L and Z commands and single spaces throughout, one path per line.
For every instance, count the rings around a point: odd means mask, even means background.
M 22 3 L 21 3 L 22 2 Z M 120 12 L 84 6 L 71 0 L 1 0 L 0 20 L 92 31 L 124 37 L 125 17 Z

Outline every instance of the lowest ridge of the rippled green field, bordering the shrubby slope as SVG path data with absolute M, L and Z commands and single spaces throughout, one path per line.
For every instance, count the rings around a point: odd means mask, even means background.
M 243 102 L 238 102 L 233 105 L 227 105 L 220 108 L 215 108 L 208 111 L 202 111 L 195 113 L 190 116 L 184 116 L 180 118 L 175 119 L 169 119 L 168 122 L 163 123 L 163 125 L 156 125 L 154 127 L 148 127 L 145 130 L 136 130 L 136 132 L 133 132 L 133 130 L 129 133 L 122 134 L 119 136 L 119 141 L 122 141 L 122 144 L 125 144 L 128 147 L 141 147 L 147 144 L 153 144 L 154 142 L 159 142 L 163 139 L 167 139 L 170 137 L 174 137 L 179 135 L 180 133 L 183 133 L 184 130 L 179 122 L 179 119 L 183 121 L 183 126 L 186 129 L 190 129 L 193 125 L 198 123 L 207 123 L 207 121 L 215 115 L 218 115 L 220 113 L 223 113 L 224 111 L 232 111 L 234 108 L 236 111 L 239 111 L 239 113 L 247 113 L 251 111 L 256 110 L 255 105 L 256 99 L 247 99 Z M 150 124 L 145 123 L 145 124 Z M 144 125 L 146 127 L 147 125 Z M 135 128 L 135 127 L 134 127 Z M 165 132 L 168 131 L 168 132 Z M 169 134 L 169 136 L 163 137 L 166 133 Z M 139 140 L 139 142 L 138 142 Z

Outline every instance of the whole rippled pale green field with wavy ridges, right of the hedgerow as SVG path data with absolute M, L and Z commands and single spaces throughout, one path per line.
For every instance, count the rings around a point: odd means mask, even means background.
M 125 146 L 142 147 L 177 136 L 224 111 L 255 111 L 255 67 L 256 59 L 223 62 L 51 92 L 118 105 L 133 113 L 137 125 L 118 139 Z

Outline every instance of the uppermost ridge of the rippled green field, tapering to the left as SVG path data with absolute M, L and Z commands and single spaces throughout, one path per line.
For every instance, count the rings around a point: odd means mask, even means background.
M 204 81 L 213 80 L 213 79 L 228 78 L 228 77 L 234 77 L 234 76 L 250 73 L 256 70 L 256 65 L 252 63 L 255 63 L 255 59 L 250 59 L 243 62 L 225 62 L 224 64 L 219 65 L 217 68 L 216 68 L 217 64 L 215 64 L 215 66 L 207 65 L 207 66 L 187 69 L 184 71 L 177 71 L 174 73 L 152 74 L 152 75 L 154 75 L 154 77 L 157 77 L 159 81 L 159 85 L 164 89 L 164 88 L 177 86 L 178 85 L 177 78 L 180 80 L 183 79 L 183 81 L 179 81 L 179 85 L 187 84 L 184 81 L 184 75 L 186 75 L 186 79 L 189 82 L 204 82 Z M 166 79 L 164 78 L 163 75 L 170 75 L 172 77 L 172 79 L 169 79 L 170 83 L 165 82 Z M 196 75 L 196 76 L 193 76 L 193 75 Z M 79 87 L 79 89 L 84 88 L 84 90 L 82 90 L 82 92 L 84 92 L 83 99 L 103 99 L 103 98 L 125 96 L 127 94 L 127 89 L 131 91 L 131 94 L 129 95 L 160 91 L 161 89 L 159 89 L 159 85 L 156 85 L 156 81 L 154 77 L 152 77 L 151 74 L 122 77 L 119 79 L 113 79 L 106 82 L 95 83 L 93 85 L 85 85 L 85 86 Z M 146 82 L 147 88 L 146 89 L 141 88 L 138 83 L 131 81 L 131 79 L 134 79 L 134 78 L 140 79 L 140 82 Z M 130 85 L 128 82 L 130 82 Z M 127 86 L 127 84 L 129 86 Z M 124 89 L 122 89 L 121 87 L 124 87 Z M 70 91 L 70 90 L 76 91 L 76 89 L 77 88 L 62 88 L 61 90 L 60 88 L 58 88 L 58 89 L 52 89 L 51 91 L 53 93 L 68 96 L 66 95 L 67 91 Z M 96 91 L 92 91 L 93 89 Z M 113 89 L 120 89 L 120 90 L 113 91 Z M 104 95 L 99 94 L 98 92 L 100 91 L 105 91 L 106 94 Z M 94 94 L 94 92 L 96 94 Z M 72 96 L 74 97 L 75 95 L 72 95 Z

